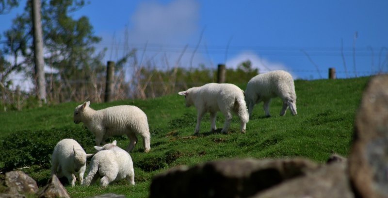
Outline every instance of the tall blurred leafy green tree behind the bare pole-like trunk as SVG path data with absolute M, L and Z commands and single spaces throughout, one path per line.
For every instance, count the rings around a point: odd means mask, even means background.
M 45 76 L 49 82 L 46 90 L 51 101 L 86 98 L 98 101 L 101 95 L 105 78 L 105 66 L 101 60 L 105 50 L 96 52 L 94 44 L 100 38 L 93 35 L 93 27 L 86 16 L 78 19 L 69 16 L 83 5 L 84 0 L 42 0 L 44 58 L 46 65 L 57 71 Z M 37 45 L 33 44 L 32 39 L 32 8 L 32 0 L 29 0 L 25 12 L 16 16 L 11 28 L 4 33 L 7 42 L 2 52 L 12 55 L 15 62 L 3 66 L 2 82 L 12 71 L 24 71 L 30 77 L 34 76 L 33 55 L 36 53 L 33 52 Z M 38 92 L 38 95 L 44 93 Z

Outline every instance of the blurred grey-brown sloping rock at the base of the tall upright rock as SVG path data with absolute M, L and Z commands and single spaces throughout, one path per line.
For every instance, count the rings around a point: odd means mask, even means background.
M 354 198 L 346 163 L 331 163 L 251 198 Z

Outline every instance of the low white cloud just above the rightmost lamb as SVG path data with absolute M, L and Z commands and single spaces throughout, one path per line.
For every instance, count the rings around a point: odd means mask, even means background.
M 274 70 L 286 70 L 289 71 L 289 68 L 282 63 L 272 62 L 265 58 L 259 57 L 259 55 L 255 54 L 252 51 L 244 51 L 239 55 L 229 59 L 226 61 L 226 67 L 228 68 L 237 68 L 239 64 L 245 61 L 251 61 L 253 68 L 259 68 L 259 73 L 266 73 L 268 71 Z M 290 72 L 290 71 L 289 71 Z M 294 79 L 297 79 L 297 76 L 290 72 Z

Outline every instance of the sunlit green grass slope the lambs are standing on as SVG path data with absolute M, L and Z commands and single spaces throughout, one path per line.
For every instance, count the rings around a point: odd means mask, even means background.
M 119 181 L 107 188 L 100 188 L 98 182 L 89 187 L 65 187 L 73 198 L 105 193 L 144 198 L 148 196 L 152 177 L 176 165 L 195 165 L 226 158 L 294 156 L 323 163 L 332 152 L 347 156 L 356 110 L 368 80 L 369 78 L 295 81 L 298 115 L 291 116 L 287 112 L 285 116 L 279 116 L 282 102 L 280 99 L 273 99 L 270 106 L 272 117 L 265 118 L 260 103 L 247 124 L 246 134 L 239 132 L 240 122 L 236 115 L 229 134 L 211 133 L 209 115 L 206 115 L 201 123 L 200 135 L 192 136 L 196 109 L 186 108 L 183 97 L 178 94 L 158 99 L 92 103 L 91 107 L 94 109 L 120 104 L 140 107 L 148 116 L 151 152 L 143 152 L 140 140 L 130 153 L 135 167 L 135 186 L 130 186 L 127 181 Z M 245 85 L 241 88 L 245 89 Z M 94 152 L 94 136 L 82 124 L 73 123 L 73 111 L 78 104 L 69 102 L 21 112 L 0 113 L 2 155 L 13 156 L 14 164 L 15 160 L 23 163 L 25 161 L 25 164 L 19 163 L 16 167 L 28 166 L 29 168 L 22 170 L 38 181 L 39 185 L 45 185 L 50 174 L 50 165 L 47 163 L 50 152 L 60 139 L 74 138 L 81 142 L 87 152 Z M 224 117 L 219 113 L 219 129 L 223 122 Z M 23 137 L 16 139 L 18 133 L 23 134 Z M 126 148 L 129 144 L 126 137 L 114 139 L 118 140 L 121 148 Z M 26 143 L 10 149 L 13 140 Z M 39 157 L 33 153 L 19 159 L 23 148 L 27 150 L 25 152 L 40 153 L 41 159 L 35 159 Z M 29 158 L 32 158 L 31 162 L 34 164 L 26 160 Z M 7 170 L 6 163 L 4 158 L 0 159 L 0 170 Z

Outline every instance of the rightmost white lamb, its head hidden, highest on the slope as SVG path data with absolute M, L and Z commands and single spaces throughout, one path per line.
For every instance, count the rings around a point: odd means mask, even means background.
M 297 115 L 295 86 L 290 73 L 276 70 L 253 77 L 249 80 L 245 90 L 249 116 L 252 116 L 255 104 L 261 101 L 264 101 L 265 115 L 271 116 L 269 104 L 271 99 L 275 97 L 280 97 L 283 100 L 280 115 L 285 115 L 288 107 L 290 107 L 292 115 Z

